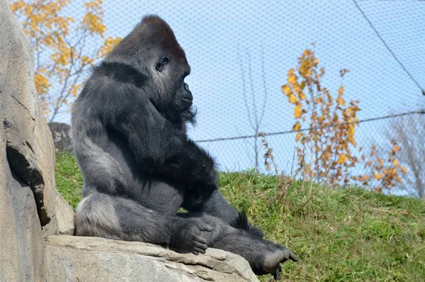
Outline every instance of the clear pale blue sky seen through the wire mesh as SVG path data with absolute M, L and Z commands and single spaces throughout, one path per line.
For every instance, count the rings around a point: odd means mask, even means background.
M 425 1 L 357 3 L 425 88 Z M 82 12 L 77 4 L 74 2 L 72 13 Z M 124 37 L 149 13 L 161 16 L 173 28 L 192 69 L 186 82 L 198 109 L 198 125 L 189 130 L 193 140 L 254 135 L 249 115 L 254 116 L 254 105 L 261 111 L 265 95 L 260 130 L 290 130 L 293 107 L 280 87 L 285 84 L 288 69 L 296 67 L 297 57 L 311 43 L 315 43 L 316 55 L 327 71 L 322 85 L 331 93 L 336 93 L 341 84 L 339 70 L 350 69 L 344 78 L 344 95 L 346 101 L 360 101 L 359 120 L 425 107 L 419 87 L 352 0 L 106 0 L 104 7 L 107 35 Z M 69 115 L 60 115 L 57 121 L 69 122 Z M 358 143 L 385 144 L 389 122 L 362 123 L 357 131 Z M 254 167 L 254 142 L 251 138 L 199 144 L 217 159 L 220 169 L 240 170 Z M 295 135 L 270 136 L 268 142 L 279 169 L 289 171 Z M 263 153 L 259 150 L 260 156 Z M 259 162 L 263 162 L 261 157 Z

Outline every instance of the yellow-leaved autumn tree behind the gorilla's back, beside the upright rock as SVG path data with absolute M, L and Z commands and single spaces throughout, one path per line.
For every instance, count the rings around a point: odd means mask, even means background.
M 120 40 L 105 36 L 103 0 L 85 1 L 85 12 L 79 19 L 64 13 L 71 2 L 11 1 L 35 52 L 35 89 L 49 121 L 69 111 L 86 69 Z M 92 42 L 101 44 L 93 47 Z

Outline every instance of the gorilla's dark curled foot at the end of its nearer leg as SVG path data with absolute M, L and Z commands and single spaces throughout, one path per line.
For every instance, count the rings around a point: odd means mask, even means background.
M 176 252 L 205 254 L 207 240 L 201 236 L 202 232 L 211 232 L 211 225 L 196 219 L 180 219 L 174 222 L 174 236 L 170 247 Z

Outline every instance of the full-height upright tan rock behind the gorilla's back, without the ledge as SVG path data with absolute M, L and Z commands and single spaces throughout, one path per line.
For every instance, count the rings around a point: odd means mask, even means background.
M 40 281 L 42 227 L 72 234 L 74 212 L 55 189 L 55 151 L 33 77 L 33 52 L 0 0 L 0 280 Z

